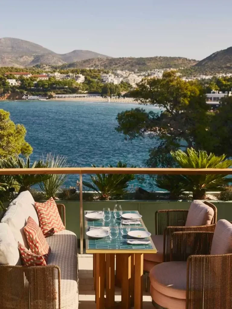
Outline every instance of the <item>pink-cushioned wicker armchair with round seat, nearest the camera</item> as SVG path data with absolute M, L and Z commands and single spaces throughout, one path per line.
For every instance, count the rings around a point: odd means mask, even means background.
M 150 272 L 153 305 L 168 309 L 231 309 L 230 222 L 219 220 L 215 233 L 174 232 L 171 241 L 171 261 L 155 266 Z M 161 278 L 162 272 L 165 278 Z

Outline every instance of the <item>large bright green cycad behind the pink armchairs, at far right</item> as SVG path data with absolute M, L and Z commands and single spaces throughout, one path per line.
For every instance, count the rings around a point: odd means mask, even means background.
M 171 155 L 182 168 L 229 168 L 232 165 L 231 160 L 226 160 L 226 155 L 208 155 L 206 151 L 196 151 L 193 148 L 187 148 L 186 152 L 171 151 Z M 181 175 L 180 185 L 185 191 L 193 193 L 193 199 L 204 199 L 206 191 L 221 190 L 229 181 L 230 178 L 224 175 Z M 176 183 L 178 182 L 176 177 Z

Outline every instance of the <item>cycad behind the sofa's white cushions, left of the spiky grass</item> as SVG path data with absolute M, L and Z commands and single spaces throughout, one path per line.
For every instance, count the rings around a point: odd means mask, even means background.
M 42 168 L 46 167 L 41 160 L 35 161 L 32 165 L 30 158 L 21 158 L 18 155 L 12 155 L 2 161 L 4 168 Z M 43 180 L 49 179 L 49 175 L 12 175 L 14 183 L 19 186 L 19 192 L 27 191 L 32 185 L 38 184 Z

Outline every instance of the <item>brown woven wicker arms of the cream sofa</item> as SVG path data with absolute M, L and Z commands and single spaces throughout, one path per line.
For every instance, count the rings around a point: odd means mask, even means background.
M 57 207 L 66 226 L 65 206 Z M 61 271 L 57 265 L 0 265 L 0 278 L 1 309 L 61 309 Z

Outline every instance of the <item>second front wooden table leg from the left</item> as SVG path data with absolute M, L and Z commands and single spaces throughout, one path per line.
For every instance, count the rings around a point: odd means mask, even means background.
M 115 254 L 106 254 L 106 307 L 114 307 L 114 259 Z

